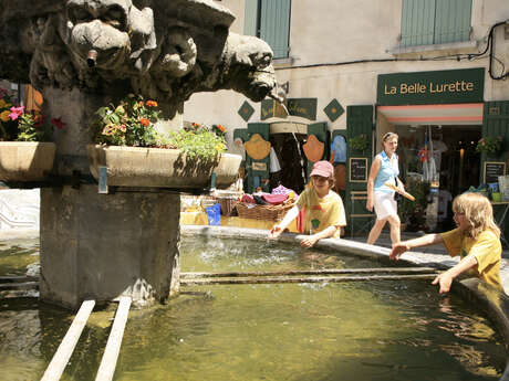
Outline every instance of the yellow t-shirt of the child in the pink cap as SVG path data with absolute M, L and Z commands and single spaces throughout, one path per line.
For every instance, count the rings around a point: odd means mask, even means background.
M 314 234 L 329 226 L 346 226 L 343 200 L 332 190 L 319 198 L 314 188 L 310 187 L 299 195 L 297 205 L 305 208 L 304 233 Z M 340 235 L 341 229 L 337 229 L 333 237 Z

